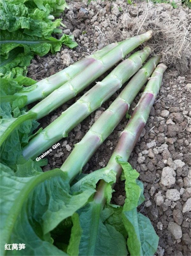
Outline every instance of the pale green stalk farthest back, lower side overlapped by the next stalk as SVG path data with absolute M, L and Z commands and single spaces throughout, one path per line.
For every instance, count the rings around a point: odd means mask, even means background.
M 105 54 L 107 54 L 111 49 L 113 49 L 117 45 L 118 43 L 111 43 L 105 46 L 103 49 L 98 50 L 94 54 L 77 61 L 73 65 L 61 70 L 60 72 L 37 82 L 37 87 L 35 89 L 31 91 L 25 91 L 23 89 L 21 92 L 18 92 L 15 95 L 27 96 L 26 105 L 34 101 L 41 100 L 47 97 L 55 89 L 58 89 L 61 85 L 71 80 L 76 74 L 80 73 L 88 65 L 102 58 Z

